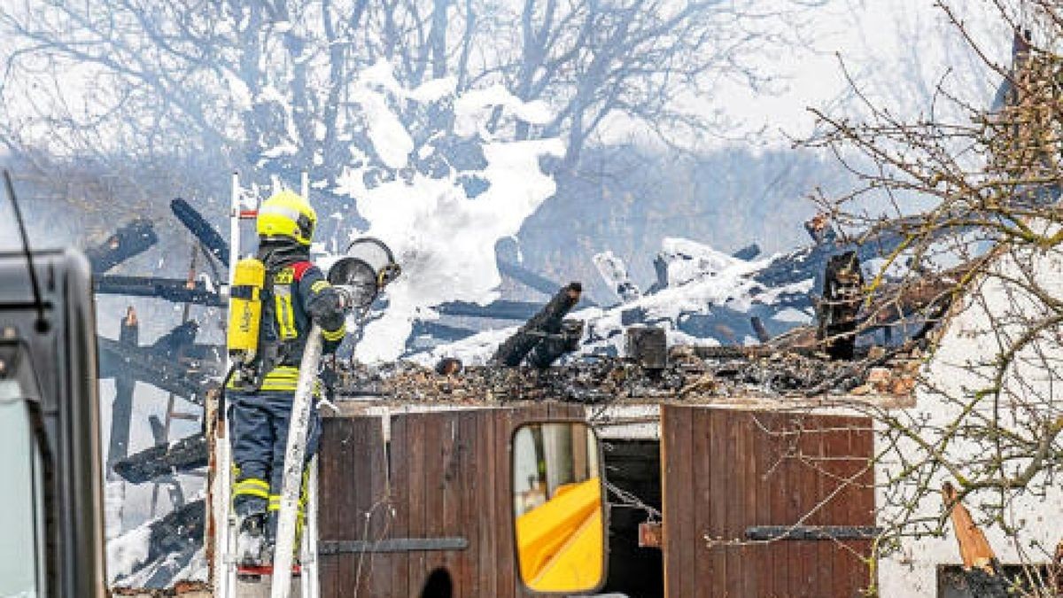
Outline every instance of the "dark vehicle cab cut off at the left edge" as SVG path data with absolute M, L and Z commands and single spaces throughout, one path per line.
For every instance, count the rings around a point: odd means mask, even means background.
M 103 597 L 89 265 L 30 259 L 0 253 L 0 597 Z

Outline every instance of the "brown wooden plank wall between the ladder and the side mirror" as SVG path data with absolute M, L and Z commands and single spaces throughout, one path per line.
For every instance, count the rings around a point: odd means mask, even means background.
M 326 418 L 322 544 L 465 537 L 469 547 L 322 555 L 322 596 L 418 597 L 438 567 L 454 596 L 524 596 L 514 578 L 509 438 L 522 421 L 583 415 L 562 404 L 393 415 L 390 451 L 378 417 Z

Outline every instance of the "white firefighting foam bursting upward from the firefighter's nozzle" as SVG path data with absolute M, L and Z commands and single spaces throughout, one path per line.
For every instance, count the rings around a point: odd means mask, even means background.
M 386 70 L 386 64 L 373 67 L 376 83 L 367 85 L 359 101 L 374 111 L 373 127 L 389 130 L 401 127 L 389 107 L 389 98 L 407 102 L 434 102 L 453 95 L 445 81 L 424 84 L 412 92 L 398 88 Z M 387 84 L 381 84 L 386 82 Z M 436 93 L 420 93 L 425 85 Z M 560 156 L 563 145 L 559 139 L 505 142 L 492 138 L 487 130 L 491 110 L 497 107 L 513 120 L 539 123 L 549 114 L 541 103 L 525 103 L 501 87 L 469 92 L 440 110 L 453 110 L 454 121 L 463 142 L 471 142 L 483 154 L 477 168 L 448 165 L 445 173 L 432 176 L 411 164 L 410 156 L 424 156 L 438 151 L 440 135 L 427 136 L 422 147 L 414 147 L 414 135 L 371 134 L 373 152 L 388 167 L 399 168 L 393 180 L 366 184 L 369 166 L 348 169 L 338 181 L 337 192 L 355 200 L 358 214 L 369 222 L 354 236 L 377 237 L 395 253 L 403 275 L 387 289 L 388 306 L 379 317 L 366 326 L 365 336 L 357 345 L 356 356 L 365 362 L 389 361 L 401 356 L 412 331 L 415 319 L 433 319 L 433 305 L 446 301 L 470 301 L 487 304 L 497 298 L 502 282 L 495 263 L 495 244 L 512 237 L 542 203 L 554 195 L 556 184 L 540 166 L 544 156 Z M 387 113 L 387 114 L 385 114 Z M 445 121 L 448 119 L 437 119 Z M 478 122 L 479 124 L 474 124 Z M 399 160 L 405 156 L 405 161 Z M 470 197 L 465 184 L 475 179 L 483 192 Z

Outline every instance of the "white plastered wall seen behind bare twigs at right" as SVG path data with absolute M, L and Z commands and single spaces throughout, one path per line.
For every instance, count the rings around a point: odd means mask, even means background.
M 1019 264 L 1028 266 L 1020 268 Z M 1005 255 L 997 260 L 994 267 L 1015 276 L 1023 276 L 1022 272 L 1028 270 L 1035 277 L 1037 286 L 1050 296 L 1063 299 L 1063 252 L 1058 249 L 1050 252 L 1029 252 L 1019 256 Z M 949 396 L 972 396 L 974 388 L 985 385 L 985 380 L 980 377 L 992 371 L 990 366 L 977 364 L 984 364 L 1000 352 L 998 335 L 1014 335 L 1023 328 L 1019 323 L 1009 326 L 1001 322 L 1012 316 L 1036 316 L 1041 313 L 1039 310 L 1044 310 L 1039 303 L 1013 283 L 1005 283 L 992 277 L 984 280 L 980 297 L 968 297 L 955 310 L 944 330 L 940 348 L 925 370 L 928 383 Z M 1026 351 L 1023 356 L 1028 358 L 1028 361 L 1017 366 L 1013 376 L 1007 379 L 1006 387 L 1017 397 L 1015 402 L 1036 402 L 1041 406 L 1036 413 L 1029 406 L 1003 410 L 1002 421 L 1006 425 L 1015 427 L 1034 416 L 1048 418 L 1063 415 L 1063 348 L 1060 338 L 1061 330 L 1057 327 L 1040 344 L 1042 352 L 1035 354 L 1034 351 Z M 1052 365 L 1056 367 L 1051 367 Z M 1024 383 L 1019 384 L 1018 380 Z M 951 421 L 959 410 L 958 404 L 923 388 L 916 395 L 915 406 L 906 415 L 945 423 Z M 876 442 L 881 448 L 882 438 L 878 437 Z M 914 444 L 906 446 L 905 450 L 906 454 L 916 454 Z M 951 447 L 949 454 L 962 458 L 981 450 L 983 449 L 966 443 Z M 883 484 L 898 468 L 896 459 L 879 464 L 876 468 L 877 482 Z M 930 487 L 940 488 L 946 479 L 946 474 L 940 472 L 930 482 Z M 877 493 L 876 501 L 880 510 L 880 525 L 883 525 L 889 515 L 885 512 L 888 502 L 883 489 L 880 488 Z M 984 516 L 977 498 L 965 503 L 976 521 Z M 940 494 L 931 494 L 922 500 L 917 512 L 927 516 L 939 515 L 942 512 Z M 1009 519 L 1020 528 L 1017 543 L 1007 537 L 998 527 L 982 527 L 1000 561 L 1005 564 L 1030 560 L 1044 562 L 1044 551 L 1050 553 L 1063 539 L 1063 488 L 1057 484 L 1044 497 L 1027 497 L 1016 501 L 1010 510 Z M 880 595 L 888 598 L 934 597 L 938 595 L 938 565 L 959 563 L 960 552 L 950 526 L 945 537 L 906 538 L 899 553 L 880 563 Z

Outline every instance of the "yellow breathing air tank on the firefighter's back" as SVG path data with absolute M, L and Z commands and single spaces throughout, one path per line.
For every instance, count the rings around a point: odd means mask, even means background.
M 258 328 L 263 315 L 266 265 L 255 258 L 236 263 L 229 294 L 229 332 L 225 345 L 237 371 L 253 367 L 258 356 Z

